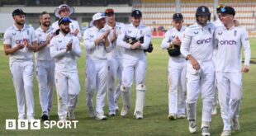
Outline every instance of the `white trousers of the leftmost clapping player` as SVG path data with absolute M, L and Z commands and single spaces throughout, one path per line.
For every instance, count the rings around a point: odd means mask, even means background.
M 33 60 L 16 60 L 10 63 L 12 82 L 17 97 L 18 119 L 35 116 L 34 87 L 33 87 Z M 25 115 L 26 100 L 26 115 Z

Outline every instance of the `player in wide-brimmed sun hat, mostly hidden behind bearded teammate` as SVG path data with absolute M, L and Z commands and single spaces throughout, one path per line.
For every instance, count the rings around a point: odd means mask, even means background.
M 55 9 L 55 16 L 59 17 L 59 18 L 64 17 L 64 16 L 70 16 L 73 13 L 74 13 L 74 8 L 69 7 L 69 5 L 67 5 L 67 4 L 59 5 L 59 7 Z M 78 38 L 81 39 L 82 35 L 81 35 L 78 21 L 74 21 L 72 19 L 70 19 L 70 20 L 71 20 L 71 23 L 69 23 L 70 33 L 75 36 L 78 36 Z M 55 21 L 52 24 L 52 27 L 54 28 L 54 31 L 58 30 L 59 29 L 58 21 Z

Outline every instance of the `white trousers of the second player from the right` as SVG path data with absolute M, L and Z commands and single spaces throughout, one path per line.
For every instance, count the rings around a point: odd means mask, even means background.
M 211 122 L 215 70 L 212 61 L 201 62 L 200 69 L 199 73 L 194 73 L 192 64 L 187 62 L 187 120 L 196 120 L 197 100 L 201 92 L 201 127 L 204 127 Z

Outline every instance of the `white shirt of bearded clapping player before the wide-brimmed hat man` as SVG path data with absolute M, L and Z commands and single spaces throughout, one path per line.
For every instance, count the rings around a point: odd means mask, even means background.
M 72 42 L 72 49 L 67 51 L 67 45 Z M 55 59 L 55 71 L 78 73 L 77 58 L 82 54 L 77 36 L 61 32 L 50 40 L 50 56 Z

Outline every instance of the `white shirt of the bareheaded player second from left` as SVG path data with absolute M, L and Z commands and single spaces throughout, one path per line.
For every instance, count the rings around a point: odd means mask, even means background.
M 38 45 L 42 45 L 46 41 L 47 35 L 53 35 L 53 28 L 50 27 L 48 30 L 44 31 L 41 29 L 41 27 L 38 27 L 36 29 L 36 37 L 37 37 L 37 42 Z M 39 60 L 52 60 L 50 57 L 50 44 L 46 45 L 44 49 L 40 49 L 38 52 L 35 54 L 35 58 Z

